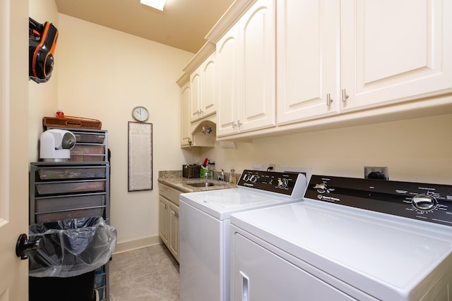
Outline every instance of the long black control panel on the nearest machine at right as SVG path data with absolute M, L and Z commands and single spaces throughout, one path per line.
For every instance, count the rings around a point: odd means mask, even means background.
M 452 226 L 452 185 L 311 176 L 304 197 Z

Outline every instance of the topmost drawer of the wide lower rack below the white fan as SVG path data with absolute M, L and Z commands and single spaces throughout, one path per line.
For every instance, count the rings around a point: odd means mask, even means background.
M 71 179 L 89 179 L 89 178 L 105 178 L 107 176 L 106 167 L 38 167 L 37 177 L 40 180 L 71 180 Z

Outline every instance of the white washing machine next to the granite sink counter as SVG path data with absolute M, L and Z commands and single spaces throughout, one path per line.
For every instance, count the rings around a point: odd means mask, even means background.
M 230 300 L 230 215 L 298 202 L 302 173 L 245 170 L 237 188 L 180 195 L 181 301 Z

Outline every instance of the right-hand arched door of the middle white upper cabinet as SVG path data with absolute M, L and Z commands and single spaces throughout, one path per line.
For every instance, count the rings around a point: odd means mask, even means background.
M 239 30 L 239 130 L 275 126 L 274 0 L 256 1 Z

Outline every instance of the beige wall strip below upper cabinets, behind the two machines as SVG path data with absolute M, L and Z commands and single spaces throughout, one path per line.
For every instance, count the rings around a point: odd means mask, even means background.
M 211 158 L 225 171 L 275 163 L 358 178 L 364 166 L 388 166 L 390 180 L 452 185 L 451 128 L 449 114 L 238 142 L 237 149 L 202 149 L 192 158 Z

